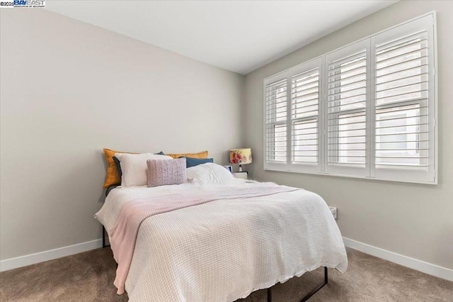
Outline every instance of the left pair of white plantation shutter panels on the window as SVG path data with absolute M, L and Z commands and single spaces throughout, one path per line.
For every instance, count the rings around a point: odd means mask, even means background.
M 267 169 L 321 172 L 321 62 L 311 60 L 265 79 Z

